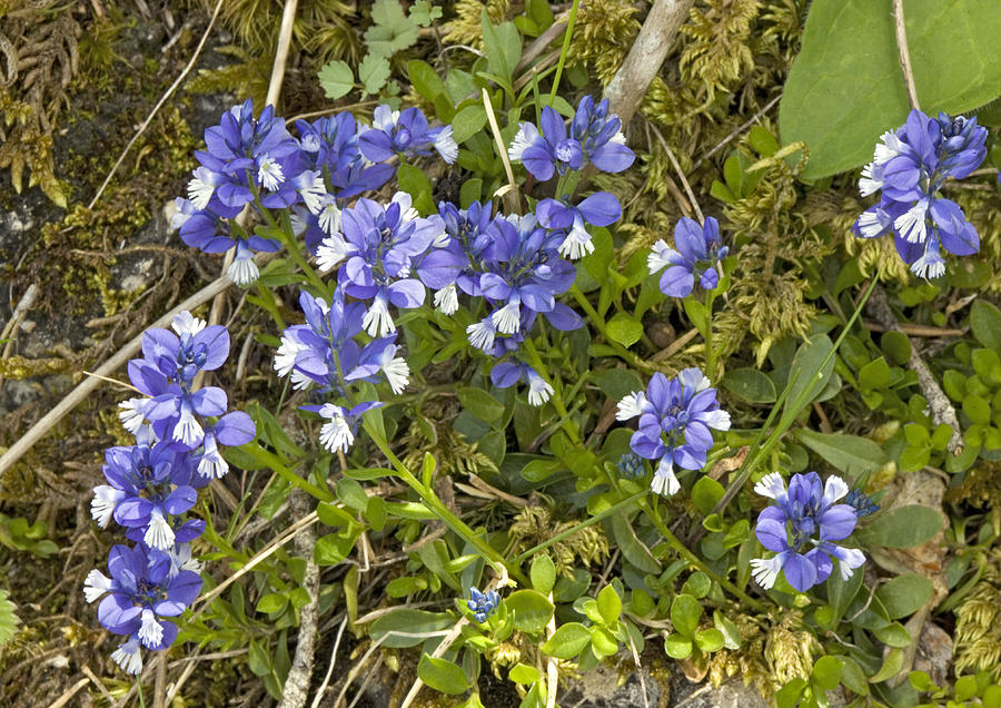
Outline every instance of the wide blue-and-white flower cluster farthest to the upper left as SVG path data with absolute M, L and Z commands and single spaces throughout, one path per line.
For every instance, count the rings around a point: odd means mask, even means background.
M 235 220 L 245 207 L 271 228 L 278 225 L 272 209 L 291 209 L 295 234 L 315 250 L 324 236 L 339 230 L 347 199 L 378 189 L 393 176 L 387 160 L 428 155 L 430 147 L 450 161 L 458 154 L 452 127 L 428 127 L 417 108 L 399 114 L 379 106 L 373 127 L 344 112 L 311 124 L 299 120 L 296 128 L 298 138 L 270 106 L 256 118 L 251 101 L 235 106 L 205 131 L 206 149 L 195 154 L 200 165 L 188 183 L 188 198 L 177 199 L 172 224 L 181 239 L 206 253 L 235 248 L 228 275 L 239 285 L 259 276 L 255 252 L 279 247 Z

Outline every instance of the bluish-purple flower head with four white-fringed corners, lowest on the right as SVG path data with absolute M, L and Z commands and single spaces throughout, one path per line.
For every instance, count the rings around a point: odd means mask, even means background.
M 832 543 L 851 535 L 859 517 L 852 505 L 836 503 L 849 491 L 841 478 L 830 476 L 821 483 L 816 472 L 794 474 L 786 490 L 782 475 L 772 472 L 754 491 L 774 502 L 761 512 L 754 529 L 761 544 L 776 553 L 751 561 L 762 588 L 773 587 L 784 571 L 789 584 L 805 592 L 830 577 L 833 559 L 838 559 L 844 580 L 865 562 L 862 551 Z

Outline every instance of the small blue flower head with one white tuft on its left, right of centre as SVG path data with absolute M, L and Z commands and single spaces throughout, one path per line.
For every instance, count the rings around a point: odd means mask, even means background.
M 683 216 L 674 227 L 674 245 L 663 239 L 653 246 L 647 257 L 651 273 L 667 268 L 661 276 L 661 292 L 670 297 L 687 297 L 695 287 L 695 278 L 703 289 L 711 291 L 720 284 L 716 263 L 726 257 L 729 248 L 720 238 L 720 223 L 713 217 L 704 226 Z

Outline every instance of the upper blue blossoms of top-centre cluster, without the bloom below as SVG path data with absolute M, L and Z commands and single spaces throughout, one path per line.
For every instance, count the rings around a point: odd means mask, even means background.
M 625 146 L 618 116 L 608 114 L 608 100 L 597 107 L 585 96 L 567 135 L 563 118 L 545 106 L 539 118 L 542 132 L 531 122 L 519 124 L 518 132 L 507 149 L 512 161 L 521 161 L 541 181 L 553 175 L 576 171 L 589 160 L 607 173 L 621 173 L 633 164 L 635 155 Z

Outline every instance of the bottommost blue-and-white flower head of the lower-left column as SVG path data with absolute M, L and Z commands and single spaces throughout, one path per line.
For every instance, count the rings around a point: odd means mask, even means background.
M 105 576 L 95 569 L 87 576 L 83 597 L 93 602 L 101 596 L 98 621 L 108 631 L 129 639 L 111 658 L 129 673 L 142 670 L 139 648 L 166 649 L 177 639 L 177 625 L 165 617 L 181 614 L 198 597 L 201 578 L 181 570 L 168 553 L 141 545 L 115 545 L 108 554 Z

